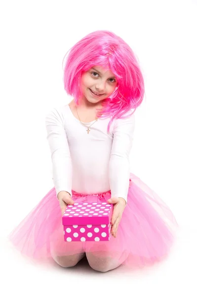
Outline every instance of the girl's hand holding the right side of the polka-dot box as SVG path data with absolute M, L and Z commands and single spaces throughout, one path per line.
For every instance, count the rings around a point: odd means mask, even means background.
M 112 215 L 112 229 L 111 233 L 116 238 L 117 237 L 117 230 L 118 230 L 118 224 L 122 218 L 122 213 L 124 211 L 124 208 L 126 206 L 126 201 L 122 197 L 112 197 L 108 199 L 109 204 L 115 204 L 113 215 Z

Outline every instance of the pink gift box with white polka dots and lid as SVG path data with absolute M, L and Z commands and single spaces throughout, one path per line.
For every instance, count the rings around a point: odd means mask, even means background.
M 68 205 L 62 217 L 64 240 L 110 240 L 112 213 L 113 205 L 107 202 L 79 202 Z

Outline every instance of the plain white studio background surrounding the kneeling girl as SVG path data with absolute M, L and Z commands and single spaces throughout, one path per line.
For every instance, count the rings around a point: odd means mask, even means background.
M 197 1 L 4 0 L 0 6 L 2 295 L 196 295 Z M 180 226 L 169 259 L 141 273 L 122 267 L 99 273 L 82 263 L 38 266 L 5 240 L 53 187 L 45 115 L 70 102 L 64 55 L 96 30 L 122 37 L 140 61 L 146 95 L 136 111 L 131 168 Z

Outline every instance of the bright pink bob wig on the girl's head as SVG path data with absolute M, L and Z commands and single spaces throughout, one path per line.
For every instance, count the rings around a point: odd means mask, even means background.
M 102 117 L 112 116 L 109 131 L 114 118 L 127 117 L 122 115 L 140 106 L 144 97 L 144 79 L 137 58 L 124 40 L 109 31 L 92 32 L 69 50 L 64 66 L 64 88 L 77 105 L 82 97 L 81 74 L 94 66 L 110 69 L 117 77 L 115 91 L 101 102 Z

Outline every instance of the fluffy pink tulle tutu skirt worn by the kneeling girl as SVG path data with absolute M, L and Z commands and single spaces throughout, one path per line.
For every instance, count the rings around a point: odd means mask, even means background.
M 9 240 L 21 254 L 41 261 L 56 256 L 99 252 L 110 254 L 129 267 L 153 265 L 167 257 L 175 237 L 177 222 L 167 205 L 149 186 L 130 174 L 127 205 L 118 226 L 117 237 L 109 241 L 65 242 L 59 201 L 53 187 L 9 234 Z M 103 194 L 80 194 L 76 202 L 103 202 L 111 191 Z

